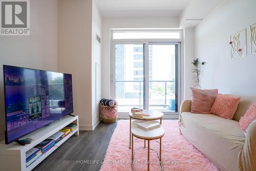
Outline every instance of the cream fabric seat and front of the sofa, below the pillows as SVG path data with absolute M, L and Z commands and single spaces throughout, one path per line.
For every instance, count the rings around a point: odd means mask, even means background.
M 239 122 L 217 115 L 183 112 L 180 131 L 220 170 L 238 170 L 238 155 L 245 143 Z

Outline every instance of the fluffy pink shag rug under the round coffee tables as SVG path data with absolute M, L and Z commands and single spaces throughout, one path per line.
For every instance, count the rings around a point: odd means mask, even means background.
M 101 171 L 132 170 L 131 149 L 129 149 L 129 122 L 119 120 L 102 162 Z M 164 170 L 218 170 L 196 147 L 179 133 L 178 120 L 162 120 L 165 134 L 162 138 L 162 164 Z M 144 140 L 134 137 L 134 149 L 144 147 Z M 150 147 L 159 152 L 159 143 L 152 140 Z M 134 170 L 147 170 L 146 148 L 134 155 Z M 160 170 L 156 152 L 150 151 L 150 169 Z

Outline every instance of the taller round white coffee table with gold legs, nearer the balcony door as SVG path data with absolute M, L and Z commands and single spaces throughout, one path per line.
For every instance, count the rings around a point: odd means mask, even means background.
M 132 125 L 132 118 L 133 119 L 137 119 L 137 120 L 158 120 L 160 119 L 160 124 L 162 124 L 162 118 L 163 118 L 163 113 L 160 111 L 153 111 L 153 110 L 143 110 L 143 117 L 142 118 L 138 118 L 135 117 L 132 112 L 129 112 L 129 117 L 130 117 L 130 137 L 129 137 L 129 148 L 131 149 L 131 125 Z M 144 148 L 146 146 L 146 141 L 144 141 Z

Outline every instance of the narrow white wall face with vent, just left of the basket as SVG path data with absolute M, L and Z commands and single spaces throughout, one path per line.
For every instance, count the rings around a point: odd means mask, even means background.
M 101 15 L 93 1 L 92 4 L 92 124 L 93 129 L 100 122 L 101 98 L 101 44 L 96 39 L 98 34 L 101 37 Z M 96 71 L 96 63 L 98 65 Z

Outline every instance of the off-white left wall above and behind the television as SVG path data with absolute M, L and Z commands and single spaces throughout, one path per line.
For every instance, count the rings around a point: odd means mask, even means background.
M 57 71 L 57 0 L 30 1 L 30 29 L 30 36 L 0 36 L 0 140 L 5 130 L 3 65 Z

